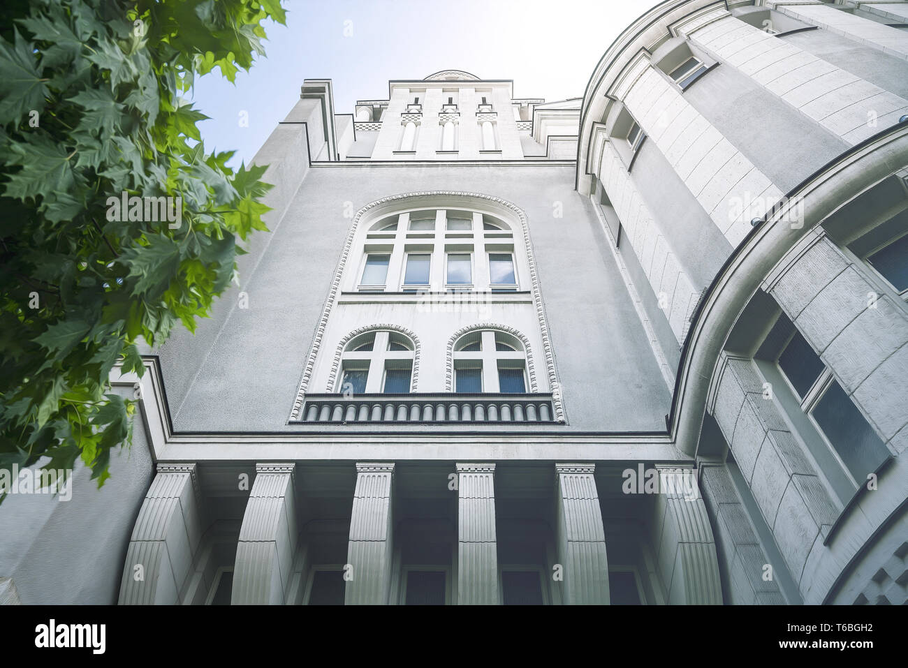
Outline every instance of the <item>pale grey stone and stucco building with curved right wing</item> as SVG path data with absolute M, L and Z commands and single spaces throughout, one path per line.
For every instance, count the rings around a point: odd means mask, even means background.
M 4 595 L 904 603 L 906 24 L 667 0 L 582 98 L 307 80 L 112 477 L 6 499 Z

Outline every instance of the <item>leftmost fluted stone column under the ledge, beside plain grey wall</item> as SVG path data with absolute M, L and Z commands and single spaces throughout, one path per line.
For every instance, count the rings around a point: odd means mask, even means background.
M 119 604 L 181 604 L 202 542 L 195 464 L 158 464 L 126 551 Z

